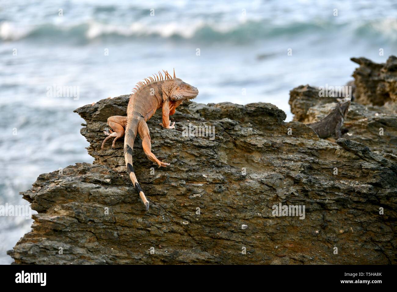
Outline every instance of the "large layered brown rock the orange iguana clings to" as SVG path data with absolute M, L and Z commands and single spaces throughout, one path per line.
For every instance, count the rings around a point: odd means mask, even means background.
M 39 214 L 9 251 L 15 263 L 397 262 L 395 161 L 356 141 L 319 139 L 301 122 L 283 122 L 272 104 L 192 102 L 172 116 L 177 130 L 153 116 L 152 151 L 171 165 L 156 168 L 135 141 L 135 172 L 151 201 L 145 212 L 126 175 L 123 139 L 100 149 L 106 119 L 125 115 L 127 100 L 76 110 L 94 164 L 42 174 L 23 192 Z M 189 123 L 215 126 L 215 139 L 186 137 Z M 304 205 L 304 219 L 274 217 L 279 203 Z

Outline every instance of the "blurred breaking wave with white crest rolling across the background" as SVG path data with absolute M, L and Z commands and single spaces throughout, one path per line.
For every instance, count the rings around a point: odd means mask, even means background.
M 70 26 L 61 24 L 42 24 L 34 27 L 21 27 L 9 21 L 0 23 L 0 40 L 16 41 L 21 39 L 90 42 L 95 39 L 114 37 L 117 39 L 162 38 L 162 39 L 197 39 L 200 41 L 243 43 L 258 39 L 301 36 L 305 33 L 340 33 L 353 31 L 357 37 L 371 35 L 389 41 L 397 41 L 397 19 L 382 19 L 351 24 L 335 24 L 330 21 L 313 23 L 293 22 L 286 25 L 271 25 L 268 21 L 244 21 L 228 26 L 217 23 L 196 21 L 181 25 L 177 22 L 152 25 L 145 22 L 133 22 L 129 25 L 105 24 L 89 21 Z

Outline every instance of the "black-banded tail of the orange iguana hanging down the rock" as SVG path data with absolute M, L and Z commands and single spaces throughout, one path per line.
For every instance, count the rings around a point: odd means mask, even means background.
M 149 201 L 146 199 L 141 186 L 139 186 L 137 177 L 135 176 L 134 168 L 132 166 L 132 149 L 134 147 L 135 137 L 138 131 L 138 119 L 133 117 L 131 120 L 127 120 L 127 125 L 125 127 L 125 137 L 124 137 L 124 158 L 125 165 L 127 165 L 127 172 L 129 178 L 134 184 L 135 190 L 139 193 L 142 202 L 145 204 L 146 211 L 149 210 Z

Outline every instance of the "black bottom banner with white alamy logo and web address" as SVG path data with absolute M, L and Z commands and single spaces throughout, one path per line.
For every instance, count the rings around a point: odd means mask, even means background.
M 367 286 L 376 289 L 382 284 L 393 284 L 396 274 L 393 265 L 3 265 L 0 266 L 0 270 L 2 288 L 24 285 L 62 289 L 115 288 L 121 284 L 129 284 L 131 289 L 137 288 L 135 285 L 144 284 L 152 289 L 157 285 L 160 288 L 170 288 L 174 285 L 181 287 L 184 283 L 187 285 L 186 288 L 194 289 L 204 288 L 210 282 L 212 287 L 219 285 L 222 288 L 229 285 L 233 287 L 241 282 L 266 289 L 309 286 L 314 288 L 320 284 L 322 286 L 317 288 Z M 29 281 L 36 283 L 26 283 Z

